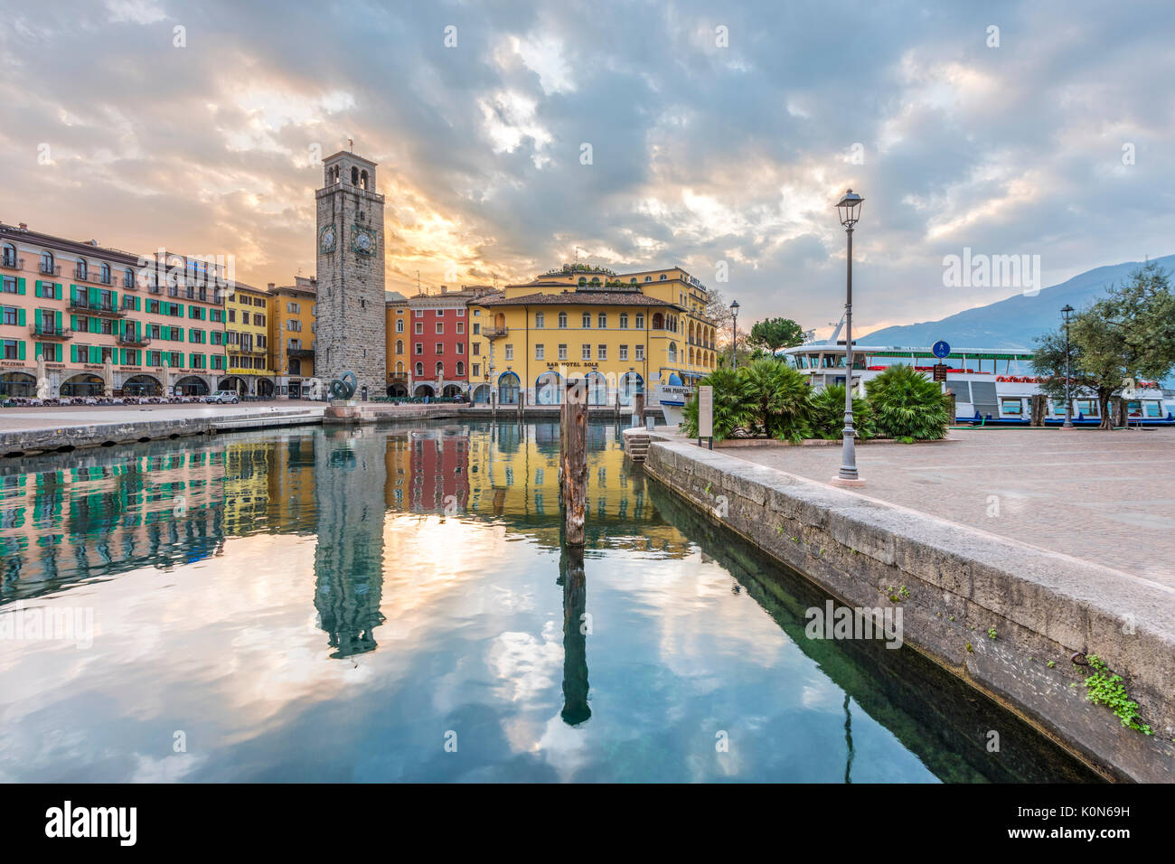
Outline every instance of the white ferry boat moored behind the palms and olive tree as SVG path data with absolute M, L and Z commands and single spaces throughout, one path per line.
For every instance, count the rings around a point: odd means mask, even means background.
M 810 343 L 777 353 L 808 376 L 814 388 L 845 383 L 845 342 Z M 955 395 L 955 422 L 980 424 L 1023 424 L 1030 418 L 1030 397 L 1040 393 L 1040 379 L 1032 374 L 1032 351 L 954 348 L 939 360 L 929 348 L 853 346 L 853 388 L 865 396 L 865 382 L 886 368 L 904 363 L 927 377 L 935 363 L 947 364 L 947 390 Z M 1130 424 L 1173 426 L 1173 406 L 1164 401 L 1159 382 L 1139 381 L 1126 394 Z M 1049 400 L 1045 423 L 1065 422 L 1065 400 Z M 1097 426 L 1101 422 L 1096 398 L 1073 398 L 1073 423 Z

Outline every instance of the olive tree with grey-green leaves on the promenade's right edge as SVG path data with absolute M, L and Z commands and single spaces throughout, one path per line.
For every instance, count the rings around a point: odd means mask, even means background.
M 1130 382 L 1163 379 L 1175 368 L 1175 295 L 1170 275 L 1154 261 L 1075 315 L 1069 324 L 1070 390 L 1096 395 L 1101 429 L 1113 428 L 1109 401 Z M 1065 330 L 1038 340 L 1033 369 L 1041 390 L 1065 396 Z

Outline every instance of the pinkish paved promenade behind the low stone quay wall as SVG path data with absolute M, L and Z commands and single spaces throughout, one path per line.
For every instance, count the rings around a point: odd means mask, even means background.
M 723 448 L 828 482 L 840 447 Z M 857 448 L 850 491 L 1175 588 L 1175 429 L 952 430 Z

